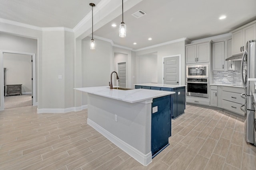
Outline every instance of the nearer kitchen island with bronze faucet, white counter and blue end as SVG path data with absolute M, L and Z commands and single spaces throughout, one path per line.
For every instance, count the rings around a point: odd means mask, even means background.
M 108 86 L 75 90 L 88 94 L 88 125 L 141 164 L 148 165 L 169 145 L 170 95 L 175 92 Z

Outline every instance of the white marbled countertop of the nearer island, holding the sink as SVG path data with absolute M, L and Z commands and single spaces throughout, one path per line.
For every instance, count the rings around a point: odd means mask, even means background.
M 110 90 L 109 86 L 99 87 L 83 87 L 74 88 L 82 92 L 95 94 L 98 96 L 104 96 L 116 100 L 122 100 L 124 102 L 135 103 L 142 102 L 145 100 L 167 96 L 169 94 L 175 94 L 175 92 L 160 91 L 160 90 L 148 90 L 148 89 L 132 89 L 132 90 Z

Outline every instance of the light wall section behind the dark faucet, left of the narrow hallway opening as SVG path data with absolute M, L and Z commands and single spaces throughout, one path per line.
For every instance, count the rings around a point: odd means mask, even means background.
M 82 40 L 82 87 L 108 86 L 110 63 L 113 63 L 112 45 L 95 39 L 95 50 L 90 49 L 91 37 Z M 82 105 L 87 104 L 86 93 L 82 94 Z

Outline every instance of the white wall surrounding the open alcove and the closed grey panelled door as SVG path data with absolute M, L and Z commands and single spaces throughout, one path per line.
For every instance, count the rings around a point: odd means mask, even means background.
M 171 43 L 168 45 L 162 45 L 160 47 L 154 47 L 150 49 L 136 51 L 136 75 L 139 75 L 139 66 L 140 56 L 146 55 L 149 53 L 157 53 L 157 82 L 163 83 L 163 57 L 172 56 L 172 55 L 181 55 L 181 84 L 186 83 L 186 59 L 185 59 L 185 41 L 179 41 L 176 43 Z M 139 76 L 136 77 L 136 83 L 140 82 Z

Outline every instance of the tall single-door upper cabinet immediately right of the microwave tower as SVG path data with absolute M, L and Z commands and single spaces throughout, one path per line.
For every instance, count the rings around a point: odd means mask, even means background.
M 212 70 L 224 70 L 224 41 L 212 43 Z

